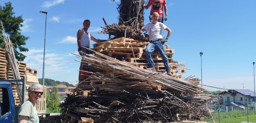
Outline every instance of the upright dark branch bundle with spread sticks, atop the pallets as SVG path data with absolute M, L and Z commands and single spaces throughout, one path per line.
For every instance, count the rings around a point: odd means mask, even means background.
M 120 0 L 117 8 L 118 24 L 105 23 L 106 27 L 102 27 L 103 31 L 100 33 L 108 34 L 109 39 L 127 37 L 139 40 L 140 30 L 144 26 L 144 2 L 145 0 Z

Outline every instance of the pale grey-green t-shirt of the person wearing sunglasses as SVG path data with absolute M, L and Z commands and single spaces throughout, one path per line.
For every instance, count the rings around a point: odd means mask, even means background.
M 29 100 L 21 105 L 19 109 L 19 116 L 20 115 L 28 116 L 28 123 L 39 123 L 36 107 Z

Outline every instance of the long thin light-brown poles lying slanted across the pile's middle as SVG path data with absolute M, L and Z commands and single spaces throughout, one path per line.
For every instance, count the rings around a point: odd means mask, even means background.
M 86 49 L 91 50 L 89 48 Z M 95 52 L 94 50 L 91 51 Z M 208 90 L 199 87 L 198 81 L 177 79 L 169 75 L 164 75 L 163 73 L 148 71 L 146 69 L 129 65 L 128 63 L 116 60 L 99 52 L 95 52 L 95 54 L 97 57 L 85 53 L 83 53 L 84 56 L 80 56 L 83 57 L 82 62 L 84 65 L 87 65 L 91 69 L 91 72 L 83 71 L 91 74 L 87 75 L 89 77 L 89 81 L 83 81 L 83 88 L 85 89 L 93 89 L 91 82 L 106 81 L 110 82 L 111 85 L 116 85 L 112 88 L 122 87 L 145 89 L 146 86 L 161 86 L 161 88 L 166 88 L 169 91 L 177 92 L 179 94 L 190 94 L 193 97 L 196 97 L 202 92 L 209 92 Z M 108 73 L 114 73 L 114 76 L 110 77 Z M 108 84 L 101 86 L 105 85 Z

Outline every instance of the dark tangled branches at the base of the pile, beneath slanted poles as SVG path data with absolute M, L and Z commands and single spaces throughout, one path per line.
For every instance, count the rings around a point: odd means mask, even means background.
M 91 91 L 88 96 L 72 95 L 60 105 L 61 115 L 90 117 L 95 123 L 163 123 L 210 118 L 204 102 L 176 97 L 169 92 L 121 90 Z M 76 109 L 87 109 L 87 113 Z M 64 119 L 65 123 L 65 119 Z

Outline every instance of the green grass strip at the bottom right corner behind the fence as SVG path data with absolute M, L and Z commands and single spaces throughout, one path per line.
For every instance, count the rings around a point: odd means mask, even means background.
M 256 113 L 254 110 L 249 110 L 249 122 L 256 123 Z M 219 115 L 218 113 L 212 113 L 214 116 L 215 123 L 219 123 Z M 211 119 L 206 119 L 205 121 L 209 123 L 213 123 Z M 247 122 L 247 111 L 246 110 L 238 110 L 238 111 L 230 111 L 230 112 L 221 112 L 220 113 L 220 123 L 241 123 Z

